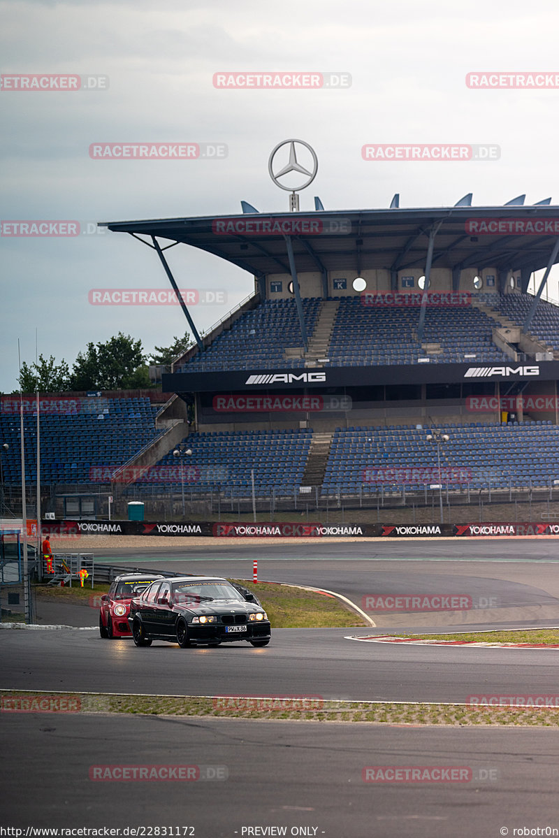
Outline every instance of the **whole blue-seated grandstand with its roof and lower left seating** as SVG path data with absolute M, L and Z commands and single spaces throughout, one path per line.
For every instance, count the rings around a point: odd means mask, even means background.
M 215 497 L 250 495 L 253 479 L 256 498 L 296 505 L 312 492 L 317 509 L 333 496 L 417 493 L 427 503 L 441 483 L 468 499 L 484 489 L 553 497 L 559 307 L 540 293 L 559 261 L 556 237 L 469 230 L 524 216 L 548 230 L 555 215 L 546 202 L 474 208 L 466 196 L 446 209 L 319 210 L 314 236 L 290 234 L 277 214 L 266 218 L 281 235 L 243 232 L 244 216 L 224 235 L 215 218 L 107 224 L 150 237 L 168 277 L 158 238 L 240 266 L 254 293 L 203 337 L 184 305 L 195 345 L 163 375 L 175 395 L 158 411 L 106 399 L 95 413 L 44 416 L 44 483 L 86 484 L 103 466 L 99 485 L 170 499 L 165 515 L 180 514 L 179 490 L 192 503 L 210 495 L 213 509 Z M 4 483 L 17 484 L 18 421 L 3 416 L 0 427 Z M 437 430 L 448 436 L 439 450 L 427 438 Z M 26 442 L 33 480 L 31 421 Z M 188 459 L 173 456 L 177 446 Z

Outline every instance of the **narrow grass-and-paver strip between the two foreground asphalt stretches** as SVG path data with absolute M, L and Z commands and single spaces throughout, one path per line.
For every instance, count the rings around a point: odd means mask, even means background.
M 126 696 L 102 693 L 0 691 L 0 710 L 114 713 L 132 716 L 221 716 L 293 722 L 372 722 L 388 725 L 453 727 L 559 727 L 559 707 L 476 707 L 453 704 L 399 704 L 323 701 L 319 696 L 211 698 L 207 696 Z M 69 709 L 70 708 L 70 709 Z

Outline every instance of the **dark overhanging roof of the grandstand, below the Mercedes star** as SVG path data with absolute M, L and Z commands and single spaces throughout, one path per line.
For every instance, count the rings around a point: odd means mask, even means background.
M 433 267 L 536 271 L 546 267 L 559 238 L 559 206 L 351 209 L 101 223 L 114 232 L 197 247 L 256 276 L 289 272 L 284 233 L 292 236 L 298 272 L 423 269 L 429 233 L 437 225 Z

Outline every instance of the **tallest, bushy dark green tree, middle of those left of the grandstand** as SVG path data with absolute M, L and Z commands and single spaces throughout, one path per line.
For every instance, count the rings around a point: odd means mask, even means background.
M 73 390 L 126 390 L 137 387 L 146 376 L 139 370 L 146 358 L 142 341 L 119 332 L 105 343 L 87 344 L 79 353 L 70 376 Z

